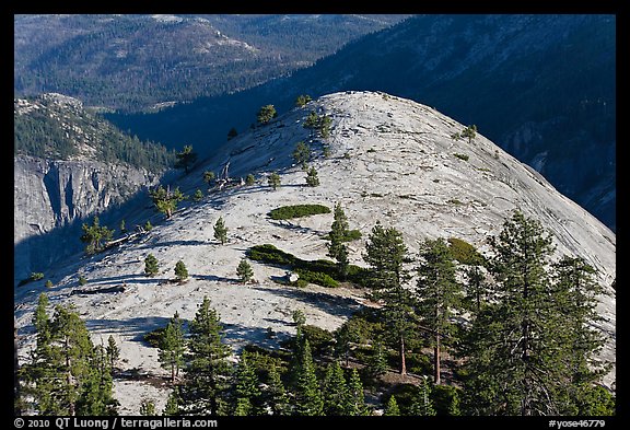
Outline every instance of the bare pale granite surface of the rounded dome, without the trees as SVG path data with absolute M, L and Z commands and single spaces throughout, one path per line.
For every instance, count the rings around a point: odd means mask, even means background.
M 322 140 L 303 127 L 313 111 L 331 118 L 330 136 L 325 141 L 328 158 L 323 154 Z M 471 142 L 453 139 L 463 128 L 460 123 L 410 100 L 343 92 L 322 96 L 240 135 L 173 185 L 188 195 L 198 188 L 207 190 L 202 172 L 219 172 L 228 162 L 231 177 L 252 173 L 255 185 L 237 185 L 235 181 L 234 186 L 217 187 L 205 193 L 199 202 L 183 204 L 170 220 L 153 218 L 155 226 L 148 233 L 90 258 L 68 258 L 47 276 L 54 282 L 51 289 L 42 280 L 15 290 L 21 359 L 28 351 L 32 312 L 42 291 L 52 303 L 75 304 L 94 339 L 114 336 L 125 369 L 156 377 L 166 371 L 160 368 L 156 349 L 143 342 L 142 335 L 163 326 L 175 312 L 191 319 L 203 297 L 219 312 L 225 339 L 234 350 L 248 342 L 268 345 L 292 335 L 291 313 L 296 309 L 304 311 L 310 324 L 335 329 L 365 304 L 361 290 L 280 286 L 272 279 L 283 276 L 284 270 L 257 262 L 252 262 L 257 283 L 243 286 L 234 279 L 238 260 L 254 245 L 273 244 L 304 259 L 327 258 L 325 236 L 331 213 L 289 222 L 273 221 L 267 214 L 285 205 L 332 207 L 340 202 L 350 228 L 363 235 L 349 247 L 350 263 L 361 266 L 364 239 L 377 220 L 399 230 L 411 254 L 418 252 L 422 240 L 435 237 L 458 237 L 487 252 L 488 236 L 501 231 L 514 209 L 539 220 L 555 237 L 557 257 L 582 256 L 597 268 L 597 279 L 605 288 L 597 306 L 604 321 L 597 327 L 608 339 L 602 357 L 615 363 L 616 299 L 610 287 L 616 277 L 615 233 L 485 136 L 477 135 Z M 311 146 L 311 164 L 320 181 L 317 187 L 305 186 L 304 171 L 293 162 L 299 141 Z M 271 172 L 281 176 L 276 191 L 267 185 Z M 40 189 L 44 193 L 45 186 Z M 68 205 L 63 208 L 69 210 Z M 132 209 L 137 219 L 155 216 L 147 198 Z M 219 217 L 229 228 L 224 245 L 213 237 Z M 143 275 L 149 253 L 161 268 L 154 278 Z M 177 260 L 185 263 L 190 279 L 170 286 Z M 114 286 L 125 286 L 125 290 L 73 294 L 82 288 L 78 274 L 85 276 L 92 290 Z M 276 340 L 267 337 L 268 330 L 276 334 Z M 603 383 L 615 385 L 615 368 Z M 122 414 L 137 414 L 143 397 L 154 398 L 161 410 L 168 393 L 167 387 L 142 381 L 120 379 L 115 386 Z

